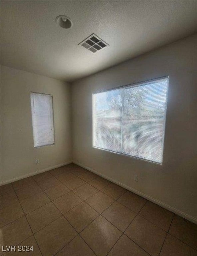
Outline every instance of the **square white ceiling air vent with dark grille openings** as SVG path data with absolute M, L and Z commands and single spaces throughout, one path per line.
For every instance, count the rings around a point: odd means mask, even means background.
M 102 49 L 105 49 L 107 46 L 109 46 L 107 43 L 105 43 L 102 39 L 100 39 L 95 34 L 90 35 L 85 40 L 83 40 L 79 45 L 85 47 L 87 50 L 91 51 L 92 53 L 96 53 L 98 51 L 101 51 Z

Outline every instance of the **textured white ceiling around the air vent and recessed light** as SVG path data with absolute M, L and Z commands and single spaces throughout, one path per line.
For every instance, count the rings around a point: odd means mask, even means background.
M 196 32 L 197 1 L 1 1 L 1 64 L 74 81 Z M 92 33 L 109 47 L 78 45 Z

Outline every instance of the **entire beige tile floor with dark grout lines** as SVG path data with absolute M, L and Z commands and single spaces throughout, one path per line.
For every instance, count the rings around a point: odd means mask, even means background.
M 0 255 L 197 256 L 197 225 L 75 164 L 0 191 Z

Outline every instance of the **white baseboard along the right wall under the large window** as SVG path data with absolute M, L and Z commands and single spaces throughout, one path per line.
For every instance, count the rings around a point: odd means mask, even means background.
M 194 218 L 194 217 L 192 217 L 192 216 L 190 216 L 190 215 L 188 215 L 188 214 L 186 214 L 186 213 L 184 213 L 182 211 L 179 211 L 179 210 L 175 209 L 172 206 L 169 206 L 169 205 L 167 205 L 165 203 L 162 203 L 162 202 L 154 199 L 153 197 L 150 197 L 150 196 L 148 196 L 146 194 L 143 194 L 143 193 L 139 192 L 138 190 L 135 190 L 135 189 L 133 189 L 131 187 L 128 187 L 127 185 L 124 185 L 123 183 L 121 183 L 121 182 L 119 182 L 117 180 L 114 180 L 114 179 L 112 179 L 112 178 L 110 178 L 108 176 L 105 176 L 105 175 L 95 171 L 94 169 L 92 169 L 92 168 L 90 168 L 88 166 L 85 166 L 85 165 L 83 165 L 83 164 L 81 164 L 79 162 L 76 162 L 76 161 L 73 160 L 73 163 L 75 163 L 75 164 L 77 164 L 77 165 L 79 165 L 79 166 L 81 166 L 81 167 L 83 167 L 83 168 L 85 168 L 85 169 L 87 169 L 87 170 L 89 170 L 91 172 L 94 172 L 95 174 L 105 178 L 106 180 L 109 180 L 109 181 L 111 181 L 111 182 L 113 182 L 113 183 L 115 183 L 115 184 L 117 184 L 117 185 L 119 185 L 119 186 L 121 186 L 121 187 L 123 187 L 123 188 L 125 188 L 125 189 L 127 189 L 127 190 L 129 190 L 129 191 L 131 191 L 131 192 L 141 196 L 141 197 L 144 197 L 145 199 L 147 199 L 147 200 L 149 200 L 149 201 L 151 201 L 151 202 L 153 202 L 155 204 L 158 204 L 159 206 L 161 206 L 161 207 L 163 207 L 163 208 L 165 208 L 165 209 L 167 209 L 167 210 L 169 210 L 169 211 L 171 211 L 171 212 L 173 212 L 173 213 L 175 213 L 175 214 L 177 214 L 177 215 L 179 215 L 179 216 L 181 216 L 181 217 L 183 217 L 183 218 L 185 218 L 185 219 L 187 219 L 187 220 L 189 220 L 189 221 L 191 221 L 191 222 L 193 222 L 195 224 L 197 224 L 197 219 L 196 218 Z

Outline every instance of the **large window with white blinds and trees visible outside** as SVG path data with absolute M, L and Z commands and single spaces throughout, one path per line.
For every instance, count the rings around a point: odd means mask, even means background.
M 168 78 L 93 95 L 93 146 L 162 163 Z

